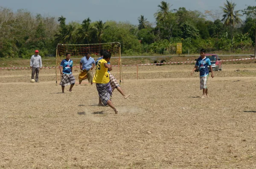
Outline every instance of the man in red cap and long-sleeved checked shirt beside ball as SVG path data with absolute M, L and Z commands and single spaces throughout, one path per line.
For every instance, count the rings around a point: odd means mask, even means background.
M 30 69 L 32 69 L 31 79 L 35 79 L 35 82 L 39 82 L 39 69 L 42 70 L 42 59 L 41 56 L 38 55 L 38 53 L 39 51 L 35 50 L 35 54 L 32 55 L 30 59 Z

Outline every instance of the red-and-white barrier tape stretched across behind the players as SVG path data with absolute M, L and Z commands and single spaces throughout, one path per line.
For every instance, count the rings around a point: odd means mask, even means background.
M 219 60 L 219 62 L 227 62 L 227 61 L 239 61 L 239 60 L 253 60 L 256 59 L 256 57 L 250 57 L 250 58 L 244 58 L 244 59 L 230 59 L 230 60 Z M 215 62 L 215 61 L 211 61 Z M 147 64 L 137 64 L 137 65 L 122 65 L 122 66 L 148 66 L 148 65 L 163 65 L 163 64 L 179 64 L 179 63 L 196 63 L 196 61 L 186 61 L 186 62 L 164 62 L 164 63 L 147 63 Z M 119 65 L 112 65 L 112 67 L 118 67 Z M 80 66 L 73 66 L 74 68 L 80 68 Z M 52 69 L 55 68 L 55 66 L 47 66 L 42 67 L 44 69 Z M 59 68 L 59 66 L 57 66 Z M 30 69 L 29 67 L 9 67 L 9 68 L 1 68 L 0 69 Z

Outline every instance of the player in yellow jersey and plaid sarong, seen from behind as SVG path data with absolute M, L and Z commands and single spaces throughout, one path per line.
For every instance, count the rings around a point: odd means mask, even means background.
M 96 73 L 93 77 L 93 83 L 96 83 L 96 87 L 99 93 L 99 97 L 104 105 L 110 106 L 115 114 L 118 113 L 113 103 L 111 102 L 112 88 L 110 85 L 108 69 L 111 69 L 111 65 L 108 64 L 111 58 L 110 52 L 104 52 L 103 59 L 99 60 L 96 66 Z

